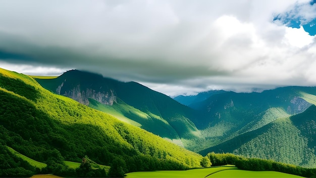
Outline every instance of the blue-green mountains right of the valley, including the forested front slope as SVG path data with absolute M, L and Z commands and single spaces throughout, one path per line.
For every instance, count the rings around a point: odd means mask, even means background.
M 316 87 L 299 86 L 213 95 L 199 103 L 203 117 L 192 120 L 205 138 L 199 153 L 230 152 L 315 166 L 312 137 L 316 137 L 316 127 L 313 120 L 302 122 L 313 118 L 315 95 Z M 293 119 L 302 115 L 306 118 Z M 308 135 L 301 128 L 308 128 Z

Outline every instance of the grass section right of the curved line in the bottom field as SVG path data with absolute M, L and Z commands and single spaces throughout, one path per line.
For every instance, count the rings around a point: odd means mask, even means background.
M 301 177 L 301 176 L 292 175 L 288 173 L 282 173 L 282 172 L 276 172 L 276 171 L 250 171 L 250 170 L 231 169 L 231 170 L 219 171 L 207 177 L 212 178 L 212 177 Z

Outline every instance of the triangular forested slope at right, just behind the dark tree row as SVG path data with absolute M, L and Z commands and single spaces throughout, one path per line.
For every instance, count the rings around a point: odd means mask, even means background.
M 316 106 L 312 105 L 300 114 L 278 118 L 200 153 L 229 152 L 246 157 L 316 167 L 315 121 Z

